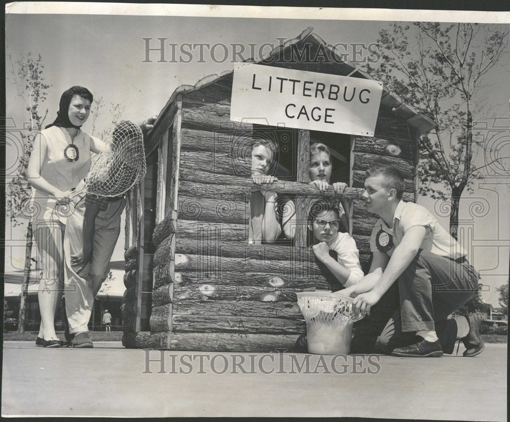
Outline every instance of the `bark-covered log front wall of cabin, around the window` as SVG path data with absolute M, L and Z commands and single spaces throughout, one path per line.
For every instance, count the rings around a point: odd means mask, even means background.
M 167 172 L 167 188 L 178 186 L 176 209 L 167 209 L 174 199 L 167 190 L 165 219 L 152 236 L 150 333 L 134 336 L 137 347 L 297 351 L 305 326 L 296 293 L 340 287 L 308 248 L 247 244 L 252 128 L 230 121 L 231 88 L 232 75 L 182 95 L 168 146 L 169 156 L 180 157 L 179 169 Z M 416 134 L 391 110 L 381 106 L 375 137 L 354 137 L 351 155 L 352 187 L 362 188 L 365 171 L 388 162 L 403 172 L 406 198 L 414 195 Z M 352 196 L 352 234 L 367 272 L 377 217 L 360 195 Z M 394 286 L 355 324 L 353 353 L 373 351 L 396 297 Z

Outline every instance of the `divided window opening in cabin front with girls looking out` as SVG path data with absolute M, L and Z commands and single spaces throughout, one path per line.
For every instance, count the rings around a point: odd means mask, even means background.
M 252 174 L 266 174 L 277 177 L 278 181 L 297 181 L 298 170 L 301 174 L 300 182 L 307 183 L 313 180 L 324 180 L 329 184 L 335 182 L 344 182 L 349 184 L 351 171 L 350 151 L 351 137 L 346 134 L 333 134 L 320 131 L 301 130 L 308 136 L 299 136 L 300 131 L 292 128 L 272 127 L 253 125 L 253 148 L 252 149 Z M 257 145 L 259 141 L 259 145 Z M 307 148 L 299 148 L 299 142 L 309 142 Z M 310 161 L 310 156 L 299 157 L 298 151 L 309 151 L 310 146 L 320 143 L 324 144 L 330 152 L 329 159 L 323 160 L 320 156 L 321 164 L 317 164 L 314 171 L 314 163 Z M 265 146 L 264 146 L 265 145 Z M 260 153 L 260 154 L 259 154 Z M 271 163 L 268 164 L 267 160 Z M 325 163 L 327 161 L 327 163 Z M 260 164 L 257 166 L 257 162 Z M 323 165 L 329 166 L 329 171 L 324 171 Z M 319 169 L 320 167 L 320 169 Z M 274 205 L 275 215 L 267 207 L 267 203 L 273 201 L 273 197 L 264 197 L 260 191 L 252 192 L 250 197 L 250 244 L 277 244 L 282 246 L 310 246 L 313 239 L 307 235 L 296 235 L 297 231 L 307 230 L 308 221 L 305 219 L 296 219 L 296 201 L 299 198 L 296 194 L 289 192 L 277 192 L 277 198 Z M 267 195 L 267 194 L 266 194 Z M 298 201 L 299 202 L 299 201 Z M 342 217 L 340 231 L 351 233 L 350 201 L 339 200 L 345 216 Z M 264 214 L 268 211 L 271 214 Z M 264 230 L 261 227 L 264 225 Z M 277 227 L 275 227 L 277 225 Z M 297 228 L 299 226 L 299 230 Z M 302 227 L 301 227 L 302 226 Z M 268 234 L 269 237 L 266 236 Z M 263 239 L 266 236 L 266 239 Z M 276 236 L 276 237 L 275 237 Z M 297 242 L 296 242 L 297 241 Z

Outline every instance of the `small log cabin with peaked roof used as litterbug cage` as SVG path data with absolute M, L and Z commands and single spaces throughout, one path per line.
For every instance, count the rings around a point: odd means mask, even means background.
M 312 30 L 258 63 L 371 78 L 339 59 L 314 63 L 319 51 L 335 52 Z M 406 178 L 404 199 L 416 200 L 418 137 L 434 123 L 393 94 L 383 91 L 375 136 L 368 138 L 233 122 L 232 83 L 233 71 L 228 71 L 177 88 L 147 137 L 147 174 L 129 195 L 131 221 L 126 222 L 125 347 L 299 351 L 296 340 L 305 324 L 296 292 L 340 288 L 307 247 L 304 224 L 297 229 L 295 246 L 248 244 L 254 137 L 277 142 L 278 181 L 273 187 L 296 195 L 298 222 L 307 218 L 310 199 L 321 196 L 309 186 L 310 144 L 330 147 L 331 182 L 346 181 L 350 187 L 345 192 L 351 204 L 350 232 L 365 273 L 377 219 L 366 212 L 361 198 L 365 171 L 373 165 L 397 166 Z M 373 351 L 397 306 L 397 292 L 395 283 L 371 315 L 355 323 L 353 353 Z

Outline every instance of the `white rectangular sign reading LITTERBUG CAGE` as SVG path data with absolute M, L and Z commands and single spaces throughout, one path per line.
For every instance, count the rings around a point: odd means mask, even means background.
M 230 119 L 374 136 L 381 95 L 378 81 L 236 63 Z

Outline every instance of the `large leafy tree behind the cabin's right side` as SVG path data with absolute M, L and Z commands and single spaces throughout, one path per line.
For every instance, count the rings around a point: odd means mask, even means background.
M 457 239 L 461 195 L 473 192 L 473 181 L 483 177 L 480 170 L 497 162 L 508 173 L 503 163 L 508 157 L 475 166 L 476 152 L 488 146 L 473 130 L 473 122 L 484 112 L 478 90 L 506 54 L 509 30 L 477 23 L 415 22 L 409 40 L 409 25 L 390 25 L 379 32 L 379 64 L 367 65 L 367 70 L 436 122 L 420 138 L 419 193 L 450 200 L 450 233 Z

